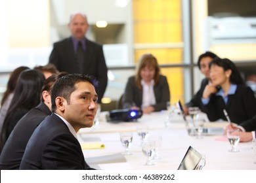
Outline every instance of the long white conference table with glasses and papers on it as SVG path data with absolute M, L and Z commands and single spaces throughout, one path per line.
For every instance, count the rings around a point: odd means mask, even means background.
M 204 127 L 226 127 L 227 122 L 209 122 L 205 114 Z M 100 113 L 100 122 L 91 128 L 80 129 L 77 138 L 81 143 L 85 161 L 96 169 L 105 170 L 177 170 L 189 146 L 205 155 L 205 170 L 253 170 L 256 169 L 256 155 L 251 142 L 240 142 L 239 152 L 229 152 L 231 146 L 224 135 L 203 135 L 197 138 L 188 135 L 181 114 L 172 114 L 167 127 L 168 112 L 152 112 L 144 114 L 135 122 L 109 122 L 108 112 Z M 190 117 L 187 116 L 188 122 Z M 137 134 L 137 126 L 148 126 L 149 136 L 161 135 L 161 159 L 154 160 L 155 165 L 144 165 L 146 158 L 142 154 L 141 139 Z M 132 155 L 123 156 L 121 132 L 132 132 Z

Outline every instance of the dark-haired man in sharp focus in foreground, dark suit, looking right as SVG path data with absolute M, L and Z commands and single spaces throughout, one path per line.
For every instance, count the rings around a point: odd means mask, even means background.
M 98 99 L 96 84 L 91 76 L 82 74 L 56 80 L 51 90 L 53 114 L 35 129 L 20 169 L 91 169 L 76 133 L 93 125 Z

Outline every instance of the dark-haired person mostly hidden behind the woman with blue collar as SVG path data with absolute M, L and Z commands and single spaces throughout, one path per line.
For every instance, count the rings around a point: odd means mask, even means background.
M 210 80 L 210 70 L 209 70 L 209 63 L 214 59 L 217 58 L 217 55 L 213 52 L 205 52 L 201 54 L 198 58 L 198 67 L 203 75 L 205 75 L 205 78 L 203 78 L 200 86 L 200 90 L 196 92 L 196 94 L 192 97 L 192 99 L 185 104 L 184 113 L 188 115 L 188 107 L 200 107 L 201 105 L 201 97 L 203 95 L 203 90 L 207 84 L 209 84 Z

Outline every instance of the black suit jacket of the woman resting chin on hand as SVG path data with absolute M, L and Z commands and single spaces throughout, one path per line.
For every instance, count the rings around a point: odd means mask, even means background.
M 233 95 L 228 95 L 228 103 L 225 104 L 223 97 L 212 94 L 207 105 L 203 106 L 207 117 L 211 122 L 223 119 L 227 120 L 223 109 L 226 109 L 231 122 L 249 128 L 252 122 L 245 122 L 256 114 L 256 99 L 253 91 L 248 86 L 238 85 Z M 243 124 L 244 122 L 244 124 Z

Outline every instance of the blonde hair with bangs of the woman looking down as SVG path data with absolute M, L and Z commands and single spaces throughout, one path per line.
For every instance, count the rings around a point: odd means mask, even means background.
M 158 65 L 158 60 L 152 54 L 143 54 L 139 59 L 139 62 L 136 67 L 136 73 L 135 73 L 135 84 L 140 89 L 142 88 L 140 83 L 140 80 L 141 80 L 140 71 L 145 67 L 154 67 L 156 71 L 154 75 L 155 86 L 158 84 L 159 78 L 160 78 L 160 67 Z

